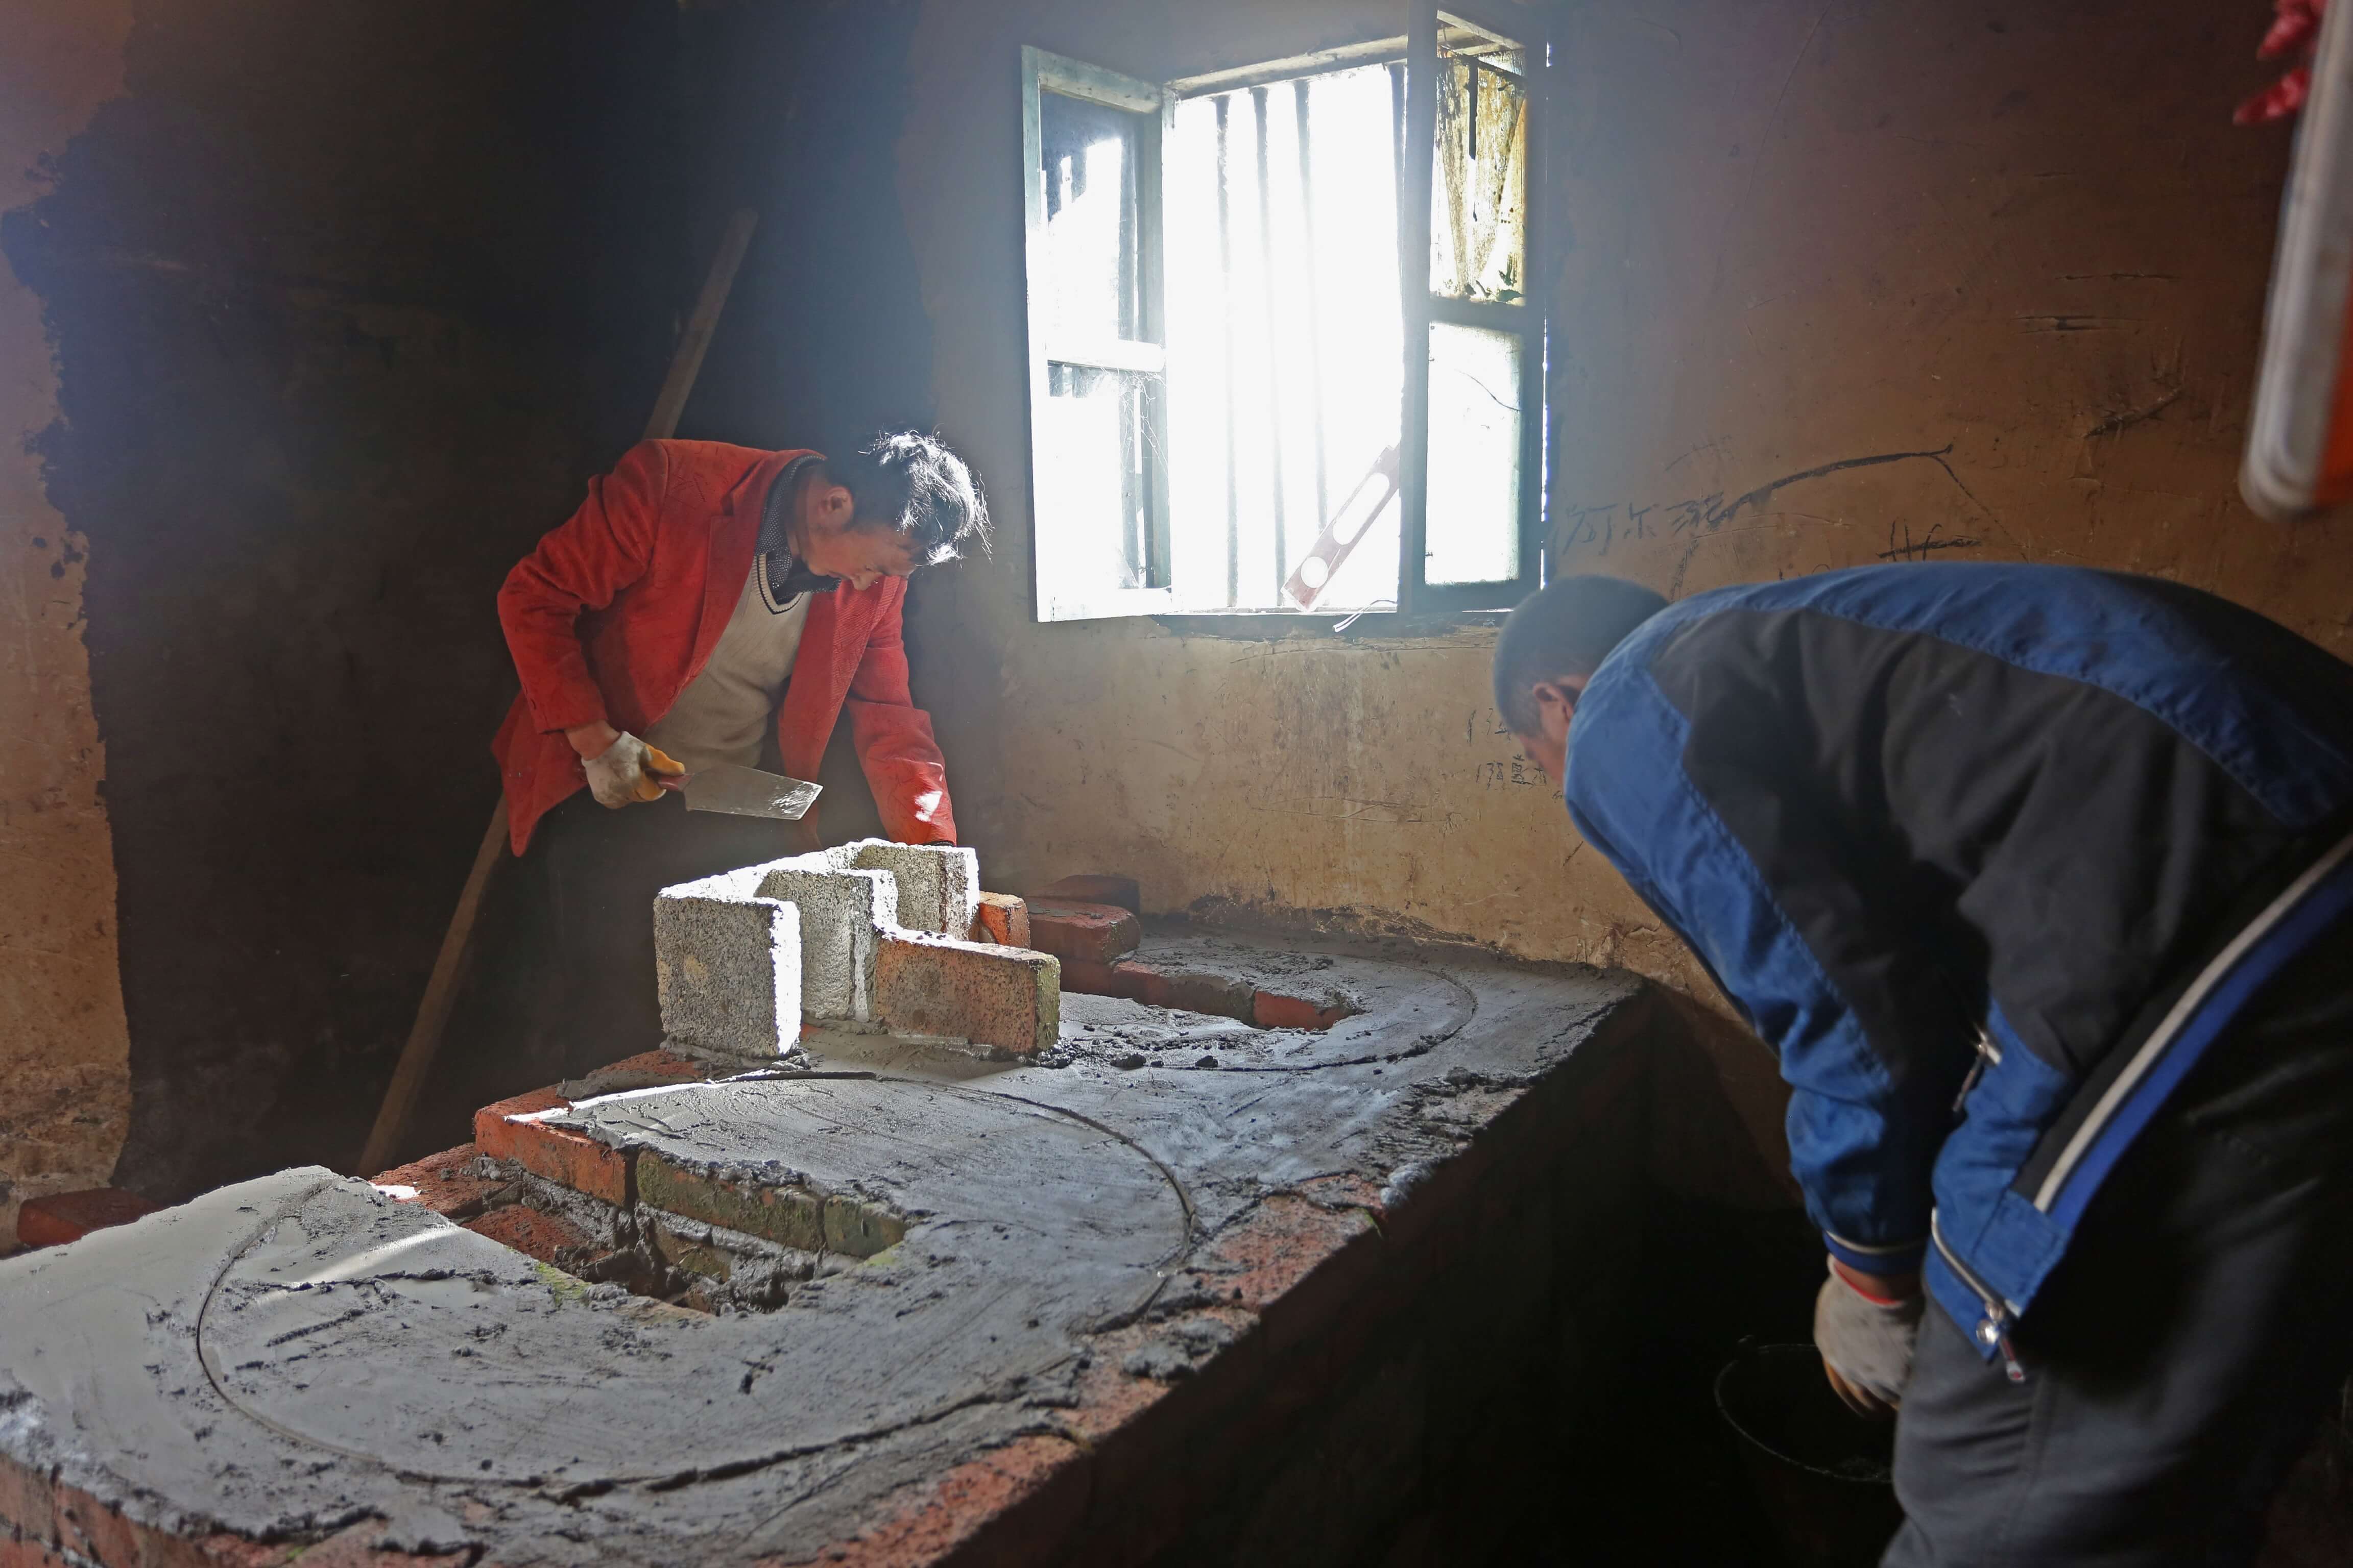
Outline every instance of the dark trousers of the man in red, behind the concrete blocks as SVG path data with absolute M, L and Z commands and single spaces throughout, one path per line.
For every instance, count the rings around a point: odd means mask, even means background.
M 553 1004 L 546 1027 L 567 1077 L 661 1044 L 654 893 L 678 882 L 814 849 L 800 823 L 687 811 L 675 795 L 607 811 L 584 790 L 541 818 L 539 860 Z

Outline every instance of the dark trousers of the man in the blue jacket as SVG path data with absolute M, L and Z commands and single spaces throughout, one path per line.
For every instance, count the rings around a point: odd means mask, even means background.
M 1887 1568 L 2254 1561 L 2353 1366 L 2353 926 L 2174 1091 L 2012 1340 L 2026 1382 L 1929 1305 Z

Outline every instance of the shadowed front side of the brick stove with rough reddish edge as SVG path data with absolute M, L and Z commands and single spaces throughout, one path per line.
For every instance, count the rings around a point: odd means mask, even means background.
M 1308 1568 L 1358 1561 L 1384 1533 L 1428 1549 L 1381 1561 L 1471 1561 L 1494 1521 L 1445 1502 L 1492 1497 L 1511 1476 L 1558 1486 L 1527 1434 L 1567 1429 L 1609 1394 L 1598 1356 L 1560 1363 L 1560 1331 L 1602 1340 L 1631 1305 L 1638 1213 L 1626 1199 L 1642 1180 L 1649 1105 L 1649 1053 L 1633 1037 L 1678 1027 L 1645 985 L 1579 1048 L 1593 1067 L 1511 1091 L 1395 1213 L 1346 1175 L 1266 1197 L 1212 1246 L 1240 1267 L 1217 1274 L 1228 1293 L 1242 1281 L 1240 1300 L 1099 1335 L 1075 1408 L 901 1488 L 816 1561 Z M 1527 1267 L 1537 1246 L 1541 1269 Z M 1191 1375 L 1122 1368 L 1122 1352 L 1202 1319 L 1233 1340 Z M 1499 1345 L 1548 1347 L 1555 1363 L 1529 1378 L 1492 1356 Z M 1257 1403 L 1247 1425 L 1193 1441 L 1245 1401 Z

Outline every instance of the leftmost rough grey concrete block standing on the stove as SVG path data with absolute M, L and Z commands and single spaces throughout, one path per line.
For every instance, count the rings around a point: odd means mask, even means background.
M 696 1051 L 772 1058 L 800 1039 L 800 910 L 741 872 L 654 898 L 661 1032 Z

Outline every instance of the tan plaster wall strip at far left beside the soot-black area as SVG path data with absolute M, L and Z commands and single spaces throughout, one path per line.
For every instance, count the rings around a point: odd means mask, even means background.
M 129 5 L 0 5 L 0 207 L 122 89 Z M 0 266 L 0 1251 L 16 1206 L 104 1182 L 129 1121 L 115 863 L 82 644 L 87 541 L 26 437 L 56 418 L 40 299 Z

